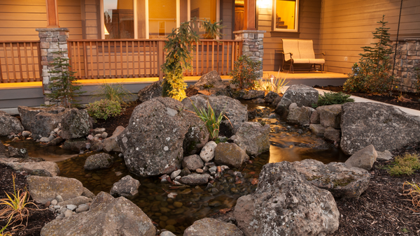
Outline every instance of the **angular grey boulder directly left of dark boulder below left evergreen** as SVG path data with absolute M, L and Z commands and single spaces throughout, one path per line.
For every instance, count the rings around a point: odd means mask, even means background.
M 57 110 L 58 111 L 58 110 Z M 32 137 L 36 140 L 42 137 L 49 137 L 51 131 L 61 125 L 62 120 L 67 117 L 69 109 L 62 112 L 39 112 L 35 115 L 35 124 L 31 127 Z

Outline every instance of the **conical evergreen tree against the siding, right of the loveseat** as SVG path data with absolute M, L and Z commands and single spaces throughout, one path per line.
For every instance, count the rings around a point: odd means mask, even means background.
M 377 43 L 372 43 L 374 47 L 362 47 L 364 53 L 351 68 L 352 73 L 344 83 L 344 91 L 365 91 L 368 93 L 385 93 L 392 89 L 393 75 L 391 75 L 392 45 L 388 29 L 384 21 L 385 15 L 378 23 L 381 27 L 373 32 L 373 38 L 378 39 Z

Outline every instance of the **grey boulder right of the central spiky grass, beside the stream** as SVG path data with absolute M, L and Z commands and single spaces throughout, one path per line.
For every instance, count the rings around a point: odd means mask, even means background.
M 258 156 L 269 151 L 269 125 L 262 126 L 259 122 L 242 123 L 231 140 L 245 149 L 249 156 Z

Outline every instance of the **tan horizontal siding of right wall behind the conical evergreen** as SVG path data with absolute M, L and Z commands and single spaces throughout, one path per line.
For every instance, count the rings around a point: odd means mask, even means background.
M 400 0 L 323 0 L 320 49 L 325 52 L 325 69 L 337 73 L 351 72 L 360 59 L 360 47 L 374 43 L 372 31 L 385 15 L 391 37 L 398 29 Z M 420 37 L 420 1 L 402 3 L 400 38 Z M 347 57 L 347 61 L 344 61 Z

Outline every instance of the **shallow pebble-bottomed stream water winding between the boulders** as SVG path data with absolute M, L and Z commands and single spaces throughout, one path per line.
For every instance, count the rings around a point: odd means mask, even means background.
M 279 161 L 301 161 L 305 158 L 314 158 L 323 163 L 331 161 L 346 161 L 339 149 L 316 138 L 305 128 L 290 126 L 281 119 L 268 119 L 267 114 L 272 108 L 258 106 L 244 102 L 248 109 L 259 109 L 265 115 L 254 121 L 265 121 L 270 124 L 270 150 L 256 158 L 252 164 L 244 164 L 240 168 L 243 177 L 235 177 L 234 171 L 223 172 L 212 186 L 172 186 L 161 183 L 158 177 L 137 177 L 128 172 L 123 158 L 112 154 L 116 163 L 106 170 L 85 170 L 83 165 L 87 156 L 94 152 L 77 154 L 77 152 L 63 150 L 59 147 L 44 147 L 33 140 L 20 140 L 10 142 L 1 138 L 3 143 L 13 147 L 26 147 L 29 156 L 41 157 L 47 161 L 56 161 L 61 176 L 80 180 L 87 189 L 97 194 L 100 191 L 108 192 L 113 183 L 118 182 L 125 175 L 139 179 L 141 186 L 139 196 L 132 199 L 136 205 L 155 222 L 158 228 L 166 228 L 176 235 L 182 235 L 183 230 L 197 219 L 216 214 L 220 209 L 235 206 L 239 197 L 252 193 L 256 189 L 255 179 L 263 165 Z M 167 198 L 168 193 L 178 193 L 176 198 Z

